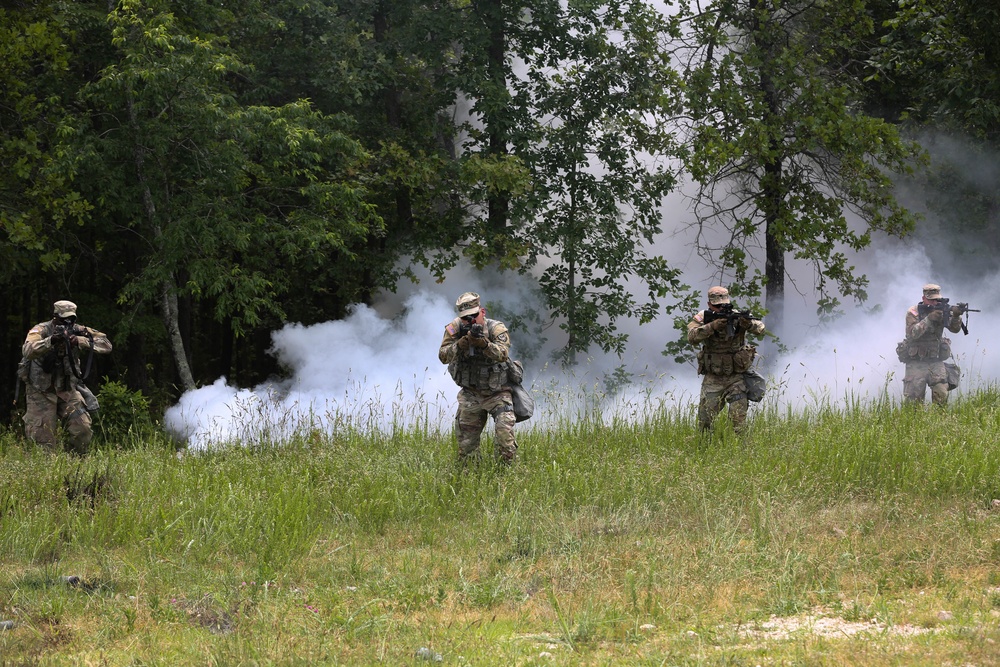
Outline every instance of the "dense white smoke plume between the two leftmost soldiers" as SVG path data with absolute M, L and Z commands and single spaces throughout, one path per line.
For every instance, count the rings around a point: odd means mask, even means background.
M 270 350 L 288 376 L 240 389 L 219 378 L 185 393 L 165 426 L 194 448 L 224 442 L 281 442 L 315 429 L 387 431 L 440 424 L 454 383 L 437 345 L 454 308 L 417 292 L 397 318 L 355 306 L 343 319 L 288 324 Z

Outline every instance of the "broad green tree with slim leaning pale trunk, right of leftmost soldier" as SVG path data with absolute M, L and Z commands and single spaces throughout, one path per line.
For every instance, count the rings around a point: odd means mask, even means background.
M 157 304 L 190 389 L 178 297 L 209 301 L 238 335 L 280 318 L 295 267 L 380 223 L 352 173 L 365 154 L 338 120 L 306 101 L 241 104 L 227 41 L 185 29 L 167 4 L 111 12 L 118 60 L 82 89 L 72 148 L 105 236 L 133 258 L 121 299 Z

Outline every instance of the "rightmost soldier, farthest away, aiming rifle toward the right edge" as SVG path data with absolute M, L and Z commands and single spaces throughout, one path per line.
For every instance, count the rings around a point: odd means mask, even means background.
M 903 377 L 903 399 L 923 403 L 927 387 L 935 405 L 948 403 L 948 371 L 944 362 L 951 356 L 951 340 L 943 335 L 945 327 L 952 333 L 962 328 L 962 308 L 940 308 L 941 287 L 924 285 L 920 303 L 906 311 L 906 338 L 901 344 L 901 359 L 906 364 Z M 945 323 L 945 311 L 948 322 Z

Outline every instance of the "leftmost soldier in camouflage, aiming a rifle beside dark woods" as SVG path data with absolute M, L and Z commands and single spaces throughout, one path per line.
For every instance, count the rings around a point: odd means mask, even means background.
M 59 421 L 69 434 L 77 454 L 86 454 L 93 437 L 90 411 L 97 399 L 83 380 L 90 371 L 95 352 L 111 352 L 111 341 L 95 329 L 76 323 L 76 304 L 56 301 L 51 321 L 32 327 L 21 348 L 18 376 L 26 387 L 25 435 L 50 451 L 56 451 Z M 88 351 L 85 367 L 80 351 Z

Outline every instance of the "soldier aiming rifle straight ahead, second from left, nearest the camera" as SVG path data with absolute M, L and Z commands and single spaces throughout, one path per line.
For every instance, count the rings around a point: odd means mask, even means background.
M 448 372 L 461 387 L 455 418 L 459 459 L 479 457 L 480 435 L 492 416 L 496 455 L 501 462 L 512 463 L 517 442 L 507 380 L 510 335 L 503 322 L 486 318 L 475 292 L 466 292 L 455 305 L 458 317 L 444 328 L 438 358 L 448 364 Z

